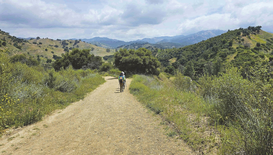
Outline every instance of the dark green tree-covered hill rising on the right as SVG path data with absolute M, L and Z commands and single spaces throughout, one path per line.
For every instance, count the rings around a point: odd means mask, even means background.
M 154 50 L 153 55 L 164 67 L 181 71 L 192 61 L 195 77 L 204 73 L 217 75 L 225 62 L 247 72 L 257 62 L 273 59 L 273 34 L 260 28 L 235 29 L 179 49 Z

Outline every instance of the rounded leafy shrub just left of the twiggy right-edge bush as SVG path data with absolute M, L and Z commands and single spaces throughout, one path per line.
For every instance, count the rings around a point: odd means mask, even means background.
M 223 120 L 233 119 L 235 113 L 241 112 L 237 108 L 241 106 L 245 94 L 252 90 L 251 83 L 241 77 L 234 67 L 228 68 L 220 77 L 200 77 L 198 83 L 203 97 L 218 100 L 214 106 Z

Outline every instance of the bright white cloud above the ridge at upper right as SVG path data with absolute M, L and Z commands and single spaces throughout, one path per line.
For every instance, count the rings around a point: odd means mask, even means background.
M 242 4 L 227 5 L 223 8 L 226 13 L 186 19 L 180 24 L 178 30 L 192 32 L 208 29 L 236 29 L 241 26 L 273 25 L 273 2 L 256 2 L 245 6 Z

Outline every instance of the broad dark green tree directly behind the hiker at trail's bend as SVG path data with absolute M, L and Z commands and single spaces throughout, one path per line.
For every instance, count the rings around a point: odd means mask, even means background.
M 115 55 L 115 66 L 128 74 L 158 75 L 160 62 L 146 48 L 120 49 Z

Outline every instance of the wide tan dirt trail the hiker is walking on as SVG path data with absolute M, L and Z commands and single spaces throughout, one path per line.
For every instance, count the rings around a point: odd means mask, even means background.
M 83 100 L 2 136 L 0 154 L 193 155 L 182 140 L 166 136 L 159 116 L 127 89 L 119 92 L 117 78 L 105 80 Z

